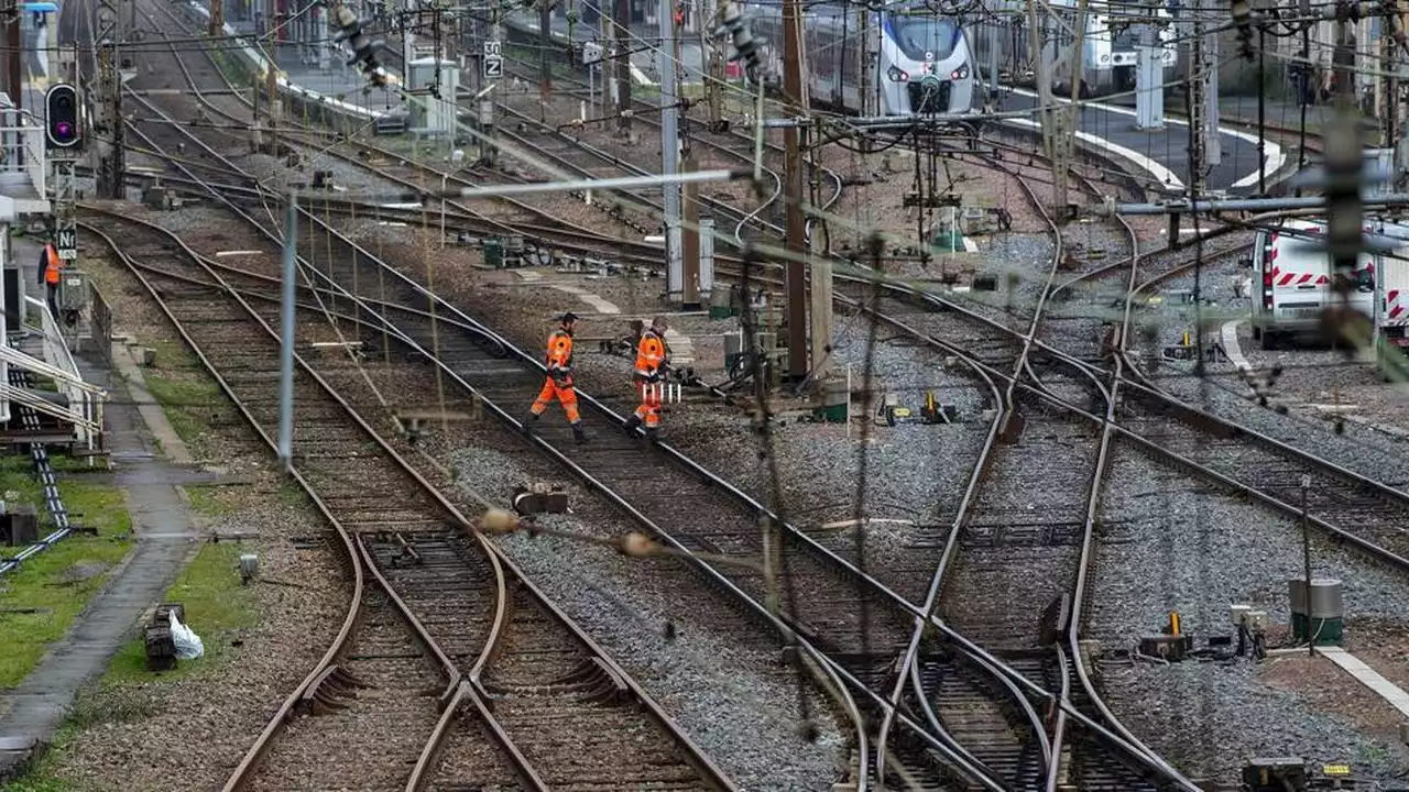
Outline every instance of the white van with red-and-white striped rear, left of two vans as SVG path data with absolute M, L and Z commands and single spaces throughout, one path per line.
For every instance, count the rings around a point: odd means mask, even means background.
M 1253 242 L 1253 338 L 1272 349 L 1282 341 L 1320 337 L 1322 311 L 1339 299 L 1330 256 L 1322 249 L 1326 224 L 1286 220 L 1257 233 Z M 1350 307 L 1375 310 L 1374 258 L 1361 254 L 1350 283 Z

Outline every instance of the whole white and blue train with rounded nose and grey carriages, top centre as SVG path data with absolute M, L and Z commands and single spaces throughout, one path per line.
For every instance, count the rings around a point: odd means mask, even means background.
M 814 104 L 878 116 L 968 113 L 982 104 L 972 52 L 958 18 L 921 1 L 890 3 L 864 13 L 857 6 L 806 8 L 803 48 Z M 759 41 L 764 72 L 750 78 L 782 85 L 782 3 L 751 4 L 747 14 Z M 865 85 L 862 47 L 876 55 Z

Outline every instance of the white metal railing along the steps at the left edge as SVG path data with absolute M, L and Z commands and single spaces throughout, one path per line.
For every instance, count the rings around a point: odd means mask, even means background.
M 56 404 L 10 383 L 0 383 L 0 397 L 73 424 L 77 443 L 90 451 L 97 450 L 103 437 L 103 400 L 107 397 L 107 392 L 83 382 L 83 375 L 79 373 L 79 366 L 63 341 L 58 321 L 49 313 L 49 306 L 44 300 L 28 296 L 25 302 L 30 303 L 31 310 L 42 317 L 44 359 L 31 358 L 6 345 L 0 345 L 0 359 L 11 366 L 52 379 L 59 393 L 68 399 L 68 404 Z

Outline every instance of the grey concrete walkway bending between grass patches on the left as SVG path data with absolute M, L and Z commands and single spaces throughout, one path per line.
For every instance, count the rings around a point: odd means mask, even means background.
M 42 753 L 63 722 L 79 686 L 103 674 L 108 660 L 132 634 L 142 613 L 159 602 L 182 567 L 199 548 L 185 493 L 173 481 L 185 471 L 156 457 L 159 448 L 173 459 L 189 461 L 180 437 L 147 393 L 142 373 L 127 348 L 114 344 L 117 378 L 106 371 L 85 376 L 108 388 L 106 407 L 107 447 L 118 486 L 127 495 L 135 550 L 113 571 L 68 634 L 13 691 L 0 693 L 10 705 L 0 717 L 0 782 L 23 774 Z M 141 406 L 138 406 L 141 404 Z

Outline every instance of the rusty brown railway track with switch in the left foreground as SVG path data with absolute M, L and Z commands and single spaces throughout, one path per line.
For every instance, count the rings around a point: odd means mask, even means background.
M 199 254 L 152 225 L 107 216 L 90 223 L 89 230 L 103 234 L 114 252 L 130 262 L 221 388 L 268 440 L 278 423 L 278 383 L 268 373 L 268 361 L 278 355 L 278 335 L 269 328 L 276 307 L 268 306 L 261 313 L 241 300 L 217 272 L 201 265 Z M 124 240 L 121 245 L 114 241 L 118 235 Z M 192 276 L 152 275 L 131 264 L 137 256 L 161 256 L 168 268 L 173 261 L 185 261 Z M 227 296 L 193 282 L 201 278 L 224 286 Z M 306 314 L 314 321 L 321 318 L 317 311 Z M 362 629 L 351 644 L 335 647 L 335 655 L 351 665 L 327 664 L 290 702 L 314 702 L 309 712 L 317 716 L 318 705 L 348 706 L 342 695 L 348 688 L 375 685 L 379 693 L 352 699 L 354 717 L 303 717 L 287 726 L 294 740 L 273 748 L 268 738 L 262 740 L 252 750 L 255 758 L 237 771 L 230 788 L 327 788 L 331 781 L 323 775 L 325 769 L 348 772 L 349 768 L 330 762 L 331 768 L 320 769 L 310 760 L 317 745 L 348 738 L 365 740 L 356 750 L 379 757 L 383 764 L 378 767 L 404 768 L 423 754 L 438 754 L 447 729 L 433 731 L 438 688 L 427 692 L 424 668 L 431 657 L 437 662 L 430 664 L 430 671 L 440 671 L 449 681 L 449 691 L 468 678 L 469 685 L 482 686 L 483 693 L 472 696 L 476 702 L 495 700 L 495 716 L 486 719 L 489 731 L 502 736 L 500 751 L 513 769 L 506 774 L 506 768 L 495 765 L 479 771 L 476 778 L 483 772 L 495 778 L 517 775 L 528 786 L 547 788 L 583 778 L 592 767 L 599 779 L 731 788 L 590 638 L 517 575 L 510 578 L 513 583 L 504 582 L 507 562 L 488 543 L 447 531 L 447 526 L 465 527 L 468 521 L 328 383 L 330 378 L 358 376 L 351 371 L 355 364 L 335 355 L 317 365 L 300 358 L 299 365 L 294 416 L 299 481 L 334 526 L 356 543 L 361 559 L 356 562 L 376 574 L 404 624 L 385 619 L 390 609 L 375 607 L 385 606 L 383 600 L 371 599 L 373 607 L 366 610 L 364 600 L 358 600 L 354 609 L 359 610 Z M 504 595 L 509 589 L 513 593 Z M 424 650 L 407 641 L 409 633 Z M 493 660 L 479 660 L 493 651 L 499 652 Z M 472 660 L 473 665 L 466 668 Z M 421 668 L 409 675 L 413 667 Z M 445 698 L 441 693 L 440 699 Z M 372 717 L 380 727 L 365 727 L 356 716 Z M 272 727 L 276 730 L 286 717 L 280 712 Z M 485 719 L 485 712 L 480 717 Z M 407 740 L 397 760 L 396 754 L 387 757 L 382 741 L 387 724 L 399 719 L 420 723 L 423 731 L 403 731 Z M 586 724 L 595 724 L 595 740 L 583 741 Z M 589 753 L 583 754 L 583 748 Z M 255 761 L 261 758 L 263 762 Z M 366 768 L 352 772 L 366 774 Z M 406 779 L 395 782 L 399 786 Z

